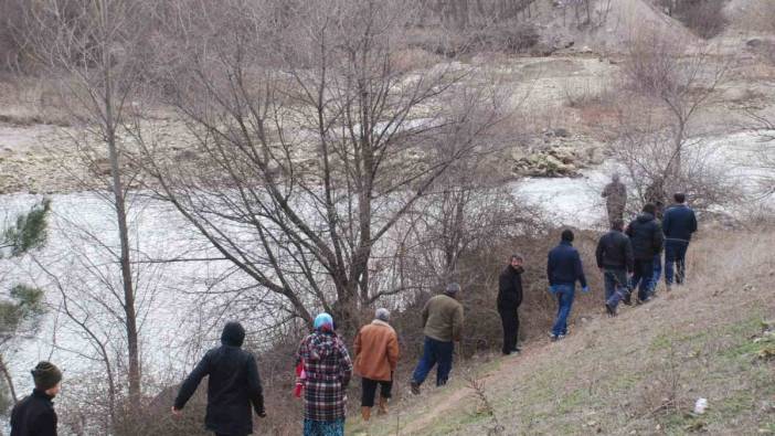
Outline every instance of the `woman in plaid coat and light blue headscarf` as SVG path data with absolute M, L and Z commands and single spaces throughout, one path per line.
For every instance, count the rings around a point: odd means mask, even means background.
M 297 364 L 301 362 L 306 373 L 304 435 L 344 436 L 344 394 L 352 362 L 344 342 L 333 331 L 330 315 L 318 315 L 314 327 L 297 354 Z

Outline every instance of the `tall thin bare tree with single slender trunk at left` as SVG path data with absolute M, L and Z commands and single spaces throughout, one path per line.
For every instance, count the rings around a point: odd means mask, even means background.
M 62 100 L 77 130 L 66 131 L 86 163 L 105 162 L 106 179 L 92 184 L 115 212 L 118 249 L 105 245 L 117 258 L 120 270 L 121 322 L 126 336 L 130 405 L 140 402 L 141 374 L 136 284 L 129 225 L 127 190 L 136 172 L 126 167 L 124 125 L 131 116 L 142 74 L 139 53 L 148 38 L 144 23 L 147 3 L 134 0 L 66 1 L 42 0 L 26 19 L 30 50 L 46 71 L 61 77 Z M 104 192 L 106 182 L 109 192 Z

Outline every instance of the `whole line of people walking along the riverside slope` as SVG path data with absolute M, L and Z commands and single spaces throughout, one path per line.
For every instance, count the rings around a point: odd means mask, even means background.
M 665 252 L 665 280 L 670 289 L 682 284 L 686 276 L 686 254 L 697 231 L 694 212 L 686 205 L 686 195 L 673 195 L 675 204 L 663 210 L 659 190 L 651 189 L 655 199 L 625 226 L 626 188 L 614 177 L 603 191 L 607 200 L 611 231 L 604 234 L 595 251 L 597 267 L 604 276 L 605 307 L 616 316 L 619 302 L 647 302 L 655 296 L 661 274 Z M 662 194 L 663 195 L 663 194 Z M 647 199 L 648 200 L 648 199 Z M 660 222 L 661 219 L 661 222 Z M 552 341 L 567 333 L 567 319 L 575 297 L 576 283 L 582 293 L 590 287 L 584 275 L 582 257 L 573 246 L 574 233 L 564 230 L 561 241 L 548 255 L 549 291 L 555 297 L 558 312 L 550 331 Z M 497 309 L 501 318 L 502 353 L 518 354 L 519 307 L 522 304 L 524 258 L 513 254 L 499 276 Z M 458 301 L 460 286 L 449 284 L 432 297 L 422 310 L 423 353 L 410 381 L 411 392 L 421 393 L 431 371 L 436 366 L 436 385 L 447 383 L 453 366 L 455 341 L 463 334 L 464 309 Z M 304 396 L 304 434 L 306 436 L 338 436 L 344 434 L 347 390 L 354 374 L 361 377 L 361 416 L 371 418 L 374 405 L 378 414 L 388 413 L 393 381 L 400 358 L 399 338 L 390 325 L 390 311 L 376 309 L 374 319 L 362 327 L 353 343 L 354 363 L 348 348 L 337 333 L 333 318 L 318 315 L 312 332 L 299 344 L 296 353 L 297 395 Z M 221 345 L 208 351 L 180 386 L 172 406 L 174 415 L 182 414 L 187 402 L 208 376 L 205 427 L 220 436 L 244 436 L 253 433 L 253 414 L 265 417 L 264 395 L 258 366 L 252 353 L 242 349 L 245 329 L 238 322 L 227 322 L 221 334 Z M 32 395 L 18 403 L 11 414 L 11 436 L 56 435 L 56 413 L 52 400 L 60 392 L 62 372 L 52 363 L 40 362 L 32 376 Z M 379 392 L 379 397 L 378 397 Z

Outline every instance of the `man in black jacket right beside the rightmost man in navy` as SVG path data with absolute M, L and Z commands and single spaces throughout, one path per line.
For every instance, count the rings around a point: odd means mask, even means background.
M 638 301 L 646 302 L 654 295 L 654 256 L 661 253 L 665 236 L 659 222 L 655 219 L 657 206 L 647 203 L 643 213 L 627 226 L 627 236 L 633 243 L 635 269 L 630 287 L 638 287 Z

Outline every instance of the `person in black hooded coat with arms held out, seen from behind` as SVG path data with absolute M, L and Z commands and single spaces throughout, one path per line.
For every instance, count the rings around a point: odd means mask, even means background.
M 221 347 L 208 351 L 180 386 L 172 406 L 173 414 L 181 414 L 199 383 L 209 375 L 205 428 L 219 436 L 253 433 L 251 404 L 256 415 L 265 417 L 266 413 L 256 359 L 241 349 L 244 340 L 242 325 L 227 322 L 221 334 Z

